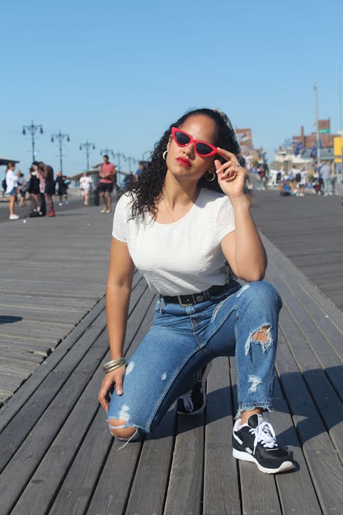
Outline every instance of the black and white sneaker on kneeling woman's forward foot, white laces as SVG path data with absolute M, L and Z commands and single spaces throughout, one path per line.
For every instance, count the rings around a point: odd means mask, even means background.
M 248 424 L 236 420 L 233 427 L 233 457 L 252 461 L 266 474 L 295 468 L 291 453 L 276 442 L 272 424 L 262 415 L 251 415 Z

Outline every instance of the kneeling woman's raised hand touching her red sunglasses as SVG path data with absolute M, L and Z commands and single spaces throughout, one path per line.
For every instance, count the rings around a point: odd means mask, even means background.
M 218 176 L 218 184 L 230 198 L 243 196 L 244 183 L 248 172 L 239 164 L 237 157 L 232 152 L 218 147 L 218 154 L 226 159 L 223 164 L 219 159 L 215 159 L 215 172 Z

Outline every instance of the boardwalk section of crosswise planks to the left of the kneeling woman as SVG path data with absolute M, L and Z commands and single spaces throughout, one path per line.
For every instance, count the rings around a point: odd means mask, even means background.
M 9 221 L 0 205 L 0 406 L 104 296 L 112 216 L 100 209 L 75 200 Z

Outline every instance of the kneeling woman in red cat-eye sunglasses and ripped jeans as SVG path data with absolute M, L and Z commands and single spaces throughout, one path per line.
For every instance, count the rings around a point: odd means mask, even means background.
M 267 260 L 238 152 L 224 113 L 191 111 L 169 127 L 139 180 L 121 196 L 106 295 L 111 361 L 104 365 L 99 402 L 115 437 L 137 439 L 213 358 L 235 354 L 233 455 L 274 473 L 294 468 L 262 415 L 272 409 L 281 299 L 261 280 Z M 220 193 L 206 185 L 219 185 Z M 225 260 L 248 284 L 226 284 Z M 134 266 L 160 297 L 154 325 L 126 368 L 122 348 Z

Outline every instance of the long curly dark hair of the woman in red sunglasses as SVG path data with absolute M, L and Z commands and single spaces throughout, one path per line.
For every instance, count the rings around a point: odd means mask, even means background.
M 161 200 L 163 184 L 165 182 L 165 174 L 167 173 L 167 165 L 162 155 L 167 148 L 169 136 L 171 134 L 171 127 L 180 127 L 186 122 L 188 118 L 196 115 L 206 115 L 213 119 L 217 127 L 217 138 L 215 146 L 220 146 L 233 154 L 239 153 L 239 144 L 237 142 L 235 131 L 231 125 L 230 120 L 225 113 L 219 109 L 200 108 L 188 111 L 178 119 L 177 122 L 172 123 L 165 131 L 161 139 L 155 144 L 154 152 L 150 157 L 150 161 L 145 164 L 138 181 L 130 184 L 128 192 L 132 194 L 132 218 L 136 216 L 144 216 L 145 211 L 149 211 L 152 216 L 156 216 L 156 204 Z M 217 156 L 217 159 L 221 159 Z M 206 181 L 205 176 L 202 176 L 199 181 L 200 187 L 208 187 L 211 190 L 222 192 L 220 185 L 215 181 Z

